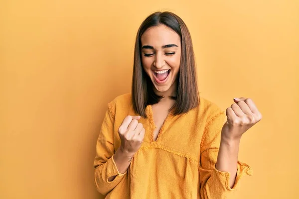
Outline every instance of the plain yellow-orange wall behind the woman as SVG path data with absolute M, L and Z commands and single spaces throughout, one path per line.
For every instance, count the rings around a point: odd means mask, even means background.
M 129 93 L 135 36 L 173 11 L 193 39 L 201 95 L 223 110 L 252 98 L 236 199 L 299 195 L 297 0 L 2 0 L 0 198 L 97 199 L 95 144 L 107 103 Z

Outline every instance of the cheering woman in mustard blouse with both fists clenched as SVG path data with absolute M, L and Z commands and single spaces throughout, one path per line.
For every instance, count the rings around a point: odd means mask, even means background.
M 132 93 L 108 103 L 97 141 L 102 195 L 223 199 L 251 175 L 237 160 L 239 143 L 261 113 L 245 98 L 221 111 L 199 97 L 196 80 L 185 23 L 171 12 L 149 15 L 136 37 Z

